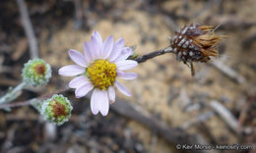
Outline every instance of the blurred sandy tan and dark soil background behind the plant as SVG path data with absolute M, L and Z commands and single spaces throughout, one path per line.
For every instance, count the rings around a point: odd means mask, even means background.
M 195 65 L 196 76 L 191 77 L 186 65 L 177 62 L 174 55 L 165 54 L 140 64 L 134 70 L 139 74 L 137 79 L 120 80 L 131 89 L 132 97 L 117 96 L 143 108 L 168 127 L 200 134 L 211 144 L 256 147 L 254 0 L 26 0 L 26 4 L 39 57 L 52 66 L 53 77 L 47 86 L 25 90 L 16 101 L 54 93 L 67 84 L 71 77 L 60 77 L 57 70 L 72 64 L 68 49 L 83 51 L 84 42 L 90 40 L 94 30 L 103 38 L 123 37 L 126 46 L 136 45 L 136 53 L 144 55 L 167 47 L 167 37 L 181 26 L 213 25 L 218 26 L 215 33 L 224 35 L 224 40 L 219 46 L 220 57 L 212 63 L 221 61 L 242 77 L 241 81 L 227 77 L 213 64 L 202 63 Z M 30 59 L 29 40 L 20 17 L 16 1 L 0 2 L 0 95 L 22 80 L 23 65 Z M 175 145 L 139 122 L 111 109 L 107 117 L 95 117 L 86 98 L 74 98 L 73 91 L 65 95 L 73 102 L 74 111 L 70 122 L 57 128 L 46 124 L 29 106 L 0 111 L 0 151 L 177 152 Z M 213 100 L 221 103 L 244 130 L 229 128 L 218 113 L 186 126 L 215 111 L 210 106 Z

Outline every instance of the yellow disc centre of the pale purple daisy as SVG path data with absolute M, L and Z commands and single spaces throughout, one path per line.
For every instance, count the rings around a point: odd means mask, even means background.
M 116 66 L 106 60 L 96 60 L 87 69 L 87 76 L 91 79 L 96 88 L 101 90 L 112 86 L 116 78 Z

